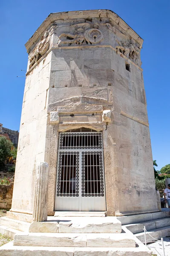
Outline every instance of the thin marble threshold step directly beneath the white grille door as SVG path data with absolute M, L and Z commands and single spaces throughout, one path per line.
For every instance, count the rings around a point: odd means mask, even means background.
M 64 211 L 56 211 L 55 217 L 105 217 L 106 212 L 64 212 Z

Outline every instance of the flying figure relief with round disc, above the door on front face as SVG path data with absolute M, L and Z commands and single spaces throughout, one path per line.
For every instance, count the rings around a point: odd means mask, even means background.
M 74 25 L 73 33 L 62 33 L 59 36 L 58 46 L 98 44 L 103 40 L 103 33 L 99 30 L 99 23 L 95 22 L 90 29 L 90 23 L 78 23 Z

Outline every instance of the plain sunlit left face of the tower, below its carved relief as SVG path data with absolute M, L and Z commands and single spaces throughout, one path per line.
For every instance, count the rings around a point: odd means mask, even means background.
M 30 214 L 35 192 L 36 166 L 44 161 L 45 155 L 50 59 L 51 54 L 41 61 L 34 73 L 29 73 L 26 77 L 23 96 L 12 209 Z

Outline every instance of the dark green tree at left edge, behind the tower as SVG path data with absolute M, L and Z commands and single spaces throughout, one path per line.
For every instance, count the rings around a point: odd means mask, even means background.
M 3 167 L 5 161 L 12 157 L 12 148 L 14 147 L 13 143 L 10 140 L 7 140 L 6 137 L 0 137 L 0 167 Z

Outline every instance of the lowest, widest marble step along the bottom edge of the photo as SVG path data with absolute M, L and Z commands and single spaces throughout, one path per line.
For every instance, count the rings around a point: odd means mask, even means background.
M 147 247 L 113 248 L 113 247 L 35 247 L 13 246 L 12 242 L 0 247 L 2 256 L 150 256 Z

